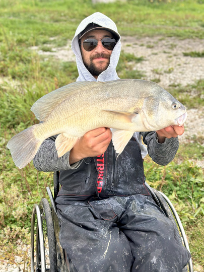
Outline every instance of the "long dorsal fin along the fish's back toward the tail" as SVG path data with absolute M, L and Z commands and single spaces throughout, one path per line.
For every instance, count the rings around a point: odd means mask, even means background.
M 69 99 L 69 96 L 73 93 L 86 92 L 90 90 L 90 88 L 96 87 L 96 84 L 99 84 L 99 82 L 80 81 L 70 83 L 42 96 L 33 104 L 31 110 L 38 120 L 44 121 L 50 112 L 64 99 Z

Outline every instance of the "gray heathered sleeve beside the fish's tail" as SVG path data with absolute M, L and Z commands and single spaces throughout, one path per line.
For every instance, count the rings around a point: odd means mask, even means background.
M 55 148 L 56 137 L 57 135 L 52 136 L 42 143 L 33 159 L 35 168 L 43 172 L 77 169 L 83 160 L 70 165 L 70 152 L 67 152 L 62 157 L 58 158 Z

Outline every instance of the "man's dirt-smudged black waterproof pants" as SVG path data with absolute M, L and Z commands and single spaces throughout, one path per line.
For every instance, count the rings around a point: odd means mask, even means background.
M 60 243 L 74 271 L 182 271 L 190 258 L 172 222 L 151 197 L 71 203 L 58 204 L 57 209 Z

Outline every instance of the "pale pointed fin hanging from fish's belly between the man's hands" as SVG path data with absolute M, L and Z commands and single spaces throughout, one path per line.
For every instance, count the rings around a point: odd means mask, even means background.
M 129 130 L 112 129 L 112 142 L 118 156 L 124 150 L 125 146 L 131 139 L 133 132 Z

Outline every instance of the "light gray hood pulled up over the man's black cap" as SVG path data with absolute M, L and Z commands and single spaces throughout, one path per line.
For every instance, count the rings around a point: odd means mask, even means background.
M 109 28 L 112 29 L 114 32 L 116 32 L 119 36 L 119 40 L 117 41 L 112 54 L 110 56 L 110 64 L 107 67 L 105 71 L 103 71 L 99 76 L 98 79 L 96 80 L 86 69 L 83 60 L 82 60 L 82 55 L 80 51 L 80 46 L 79 46 L 79 34 L 90 24 L 94 23 L 97 24 L 101 27 L 104 28 Z M 74 54 L 76 55 L 76 61 L 77 61 L 77 68 L 79 72 L 79 77 L 77 81 L 111 81 L 111 80 L 116 80 L 119 79 L 116 73 L 116 66 L 119 60 L 120 56 L 120 50 L 121 50 L 121 43 L 120 43 L 120 35 L 117 31 L 117 27 L 115 23 L 105 16 L 104 14 L 100 12 L 96 12 L 89 17 L 85 18 L 80 25 L 78 26 L 75 36 L 72 40 L 72 50 Z

